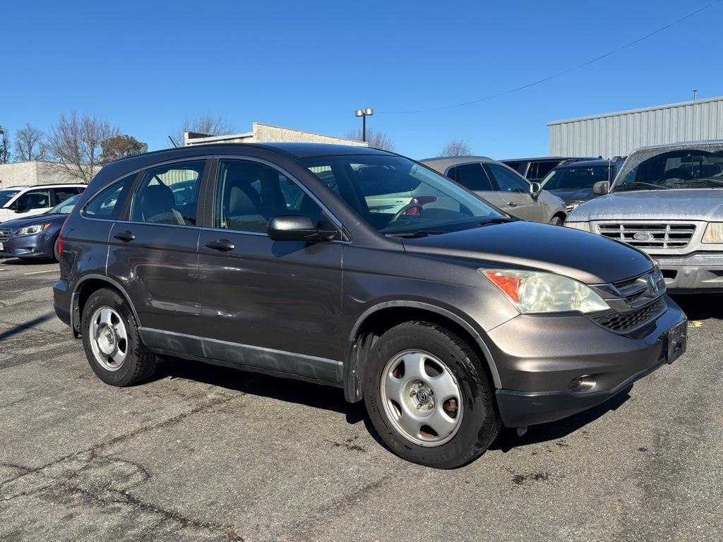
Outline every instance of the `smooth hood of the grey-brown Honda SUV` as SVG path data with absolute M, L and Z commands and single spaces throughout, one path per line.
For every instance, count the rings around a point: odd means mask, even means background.
M 473 259 L 502 269 L 554 272 L 586 284 L 636 277 L 653 267 L 641 251 L 618 241 L 522 220 L 402 242 L 408 252 Z

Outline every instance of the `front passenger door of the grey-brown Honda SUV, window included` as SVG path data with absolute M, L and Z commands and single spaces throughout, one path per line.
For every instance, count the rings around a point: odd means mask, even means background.
M 205 355 L 322 381 L 341 379 L 340 241 L 272 241 L 275 215 L 325 220 L 269 165 L 220 160 L 213 228 L 199 238 Z

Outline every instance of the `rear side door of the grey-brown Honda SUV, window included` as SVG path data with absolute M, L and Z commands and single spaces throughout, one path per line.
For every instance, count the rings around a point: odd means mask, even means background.
M 142 172 L 125 220 L 109 236 L 108 276 L 124 285 L 151 348 L 202 355 L 197 209 L 207 160 L 184 160 Z M 192 185 L 188 198 L 174 184 Z

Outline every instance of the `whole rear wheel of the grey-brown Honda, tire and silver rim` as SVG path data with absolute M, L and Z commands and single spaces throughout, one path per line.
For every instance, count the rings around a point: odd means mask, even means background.
M 112 386 L 130 386 L 149 378 L 157 358 L 143 344 L 127 302 L 102 288 L 88 298 L 82 312 L 83 348 L 98 378 Z

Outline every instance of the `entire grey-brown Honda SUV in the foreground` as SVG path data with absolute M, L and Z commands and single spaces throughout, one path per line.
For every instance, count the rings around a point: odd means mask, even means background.
M 195 181 L 181 205 L 178 178 Z M 118 160 L 61 239 L 55 310 L 103 382 L 141 382 L 168 356 L 341 387 L 394 452 L 437 468 L 685 350 L 685 314 L 641 251 L 516 220 L 366 147 Z

